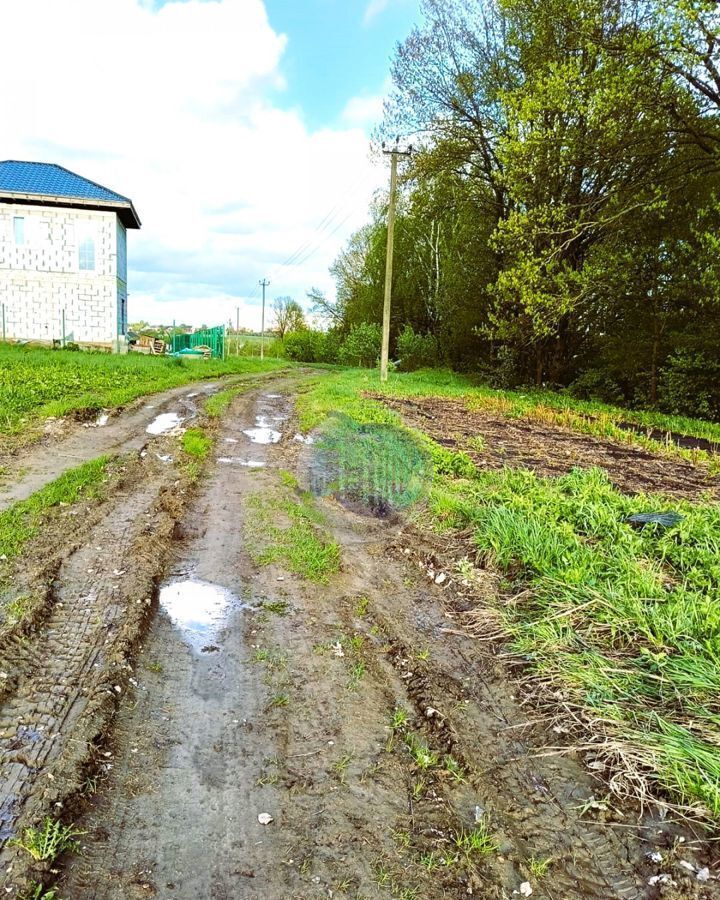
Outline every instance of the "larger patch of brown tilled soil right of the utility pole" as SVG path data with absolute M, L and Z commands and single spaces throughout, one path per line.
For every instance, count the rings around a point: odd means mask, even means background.
M 657 492 L 688 499 L 718 496 L 720 479 L 710 476 L 702 467 L 631 444 L 469 410 L 459 400 L 411 400 L 379 395 L 377 399 L 400 413 L 408 425 L 424 431 L 438 443 L 465 450 L 481 469 L 523 467 L 539 475 L 557 476 L 574 466 L 598 466 L 620 490 L 628 493 Z M 477 437 L 484 441 L 481 452 L 468 444 Z

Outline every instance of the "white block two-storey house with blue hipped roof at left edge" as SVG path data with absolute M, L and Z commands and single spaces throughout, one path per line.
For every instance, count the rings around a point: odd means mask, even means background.
M 120 349 L 127 197 L 50 163 L 0 162 L 0 326 L 7 340 Z

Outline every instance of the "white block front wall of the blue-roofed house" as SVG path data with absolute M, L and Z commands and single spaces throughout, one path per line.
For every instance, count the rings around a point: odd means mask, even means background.
M 25 243 L 13 220 L 25 219 Z M 118 317 L 117 216 L 113 212 L 0 203 L 0 303 L 5 336 L 114 346 Z M 81 271 L 79 242 L 95 239 L 95 270 Z M 1 335 L 0 335 L 1 337 Z

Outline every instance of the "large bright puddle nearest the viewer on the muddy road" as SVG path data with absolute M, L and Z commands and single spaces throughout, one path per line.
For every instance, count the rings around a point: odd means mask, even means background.
M 213 643 L 233 609 L 250 609 L 226 588 L 208 581 L 175 581 L 160 589 L 160 606 L 194 650 Z

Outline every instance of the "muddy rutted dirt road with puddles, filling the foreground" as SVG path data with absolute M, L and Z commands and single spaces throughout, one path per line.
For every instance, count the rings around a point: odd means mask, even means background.
M 648 883 L 691 833 L 602 802 L 458 627 L 491 575 L 469 591 L 409 526 L 300 494 L 297 387 L 234 401 L 191 500 L 153 454 L 77 537 L 6 692 L 0 838 L 57 797 L 85 832 L 66 900 L 713 896 Z M 297 497 L 340 548 L 327 583 L 253 549 Z M 11 895 L 23 858 L 0 853 Z

